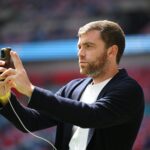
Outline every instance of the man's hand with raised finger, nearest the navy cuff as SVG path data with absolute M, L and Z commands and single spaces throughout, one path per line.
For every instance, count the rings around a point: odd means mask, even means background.
M 18 92 L 28 97 L 31 97 L 34 86 L 30 82 L 17 53 L 11 51 L 10 55 L 14 63 L 15 69 L 9 68 L 7 70 L 4 70 L 3 73 L 0 75 L 0 79 L 4 78 L 4 84 L 8 85 L 9 87 L 15 88 Z

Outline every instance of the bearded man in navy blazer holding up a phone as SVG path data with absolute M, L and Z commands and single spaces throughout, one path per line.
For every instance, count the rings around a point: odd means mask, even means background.
M 103 20 L 81 27 L 78 36 L 80 73 L 88 77 L 69 82 L 56 94 L 34 86 L 18 55 L 11 52 L 15 69 L 0 68 L 0 78 L 5 78 L 1 114 L 24 131 L 8 103 L 10 97 L 29 130 L 57 125 L 58 150 L 131 150 L 144 98 L 138 83 L 119 69 L 125 35 L 117 23 Z M 11 87 L 29 97 L 28 108 L 9 94 Z

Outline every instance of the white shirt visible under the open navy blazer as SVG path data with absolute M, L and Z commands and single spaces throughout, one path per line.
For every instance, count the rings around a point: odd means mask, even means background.
M 87 104 L 94 103 L 97 100 L 99 93 L 110 80 L 111 79 L 107 79 L 98 84 L 89 84 L 83 92 L 80 101 Z M 89 128 L 73 126 L 73 131 L 75 132 L 70 140 L 69 150 L 85 150 L 87 146 Z

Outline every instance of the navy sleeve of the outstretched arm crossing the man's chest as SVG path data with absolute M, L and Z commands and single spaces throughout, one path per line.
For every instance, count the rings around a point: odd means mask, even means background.
M 29 106 L 83 128 L 105 128 L 143 115 L 143 92 L 133 81 L 121 82 L 95 103 L 86 104 L 36 87 Z

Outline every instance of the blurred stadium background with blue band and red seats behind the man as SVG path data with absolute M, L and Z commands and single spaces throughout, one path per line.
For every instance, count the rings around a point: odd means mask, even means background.
M 0 0 L 0 47 L 16 50 L 31 81 L 55 92 L 71 79 L 81 77 L 77 31 L 99 19 L 118 22 L 126 33 L 126 52 L 120 66 L 141 84 L 146 103 L 133 150 L 150 150 L 149 0 Z M 26 97 L 18 97 L 26 105 Z M 36 134 L 54 142 L 55 127 Z M 30 149 L 48 150 L 49 146 L 20 132 L 1 116 L 0 150 Z

